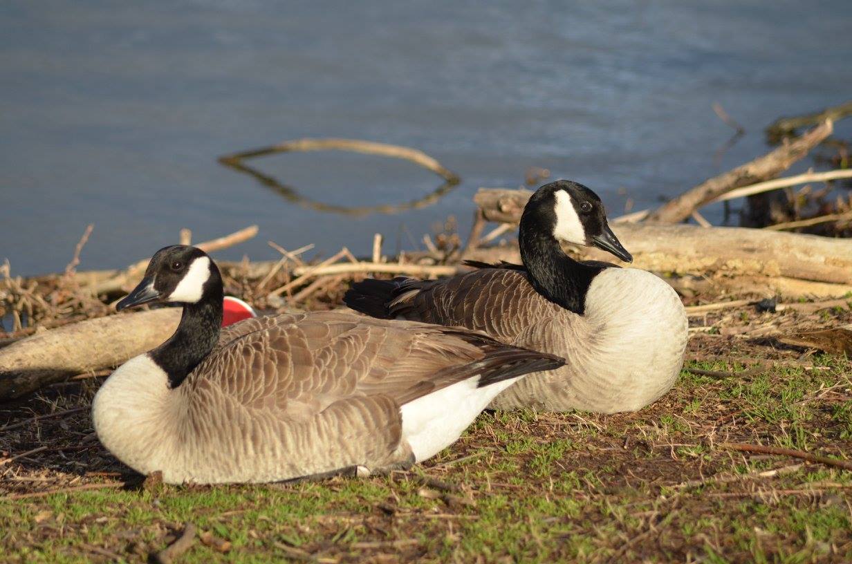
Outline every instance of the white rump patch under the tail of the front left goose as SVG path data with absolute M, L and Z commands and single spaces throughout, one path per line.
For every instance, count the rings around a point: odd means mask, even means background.
M 517 379 L 477 388 L 479 376 L 475 376 L 402 406 L 402 439 L 412 447 L 417 462 L 434 457 L 456 442 L 491 400 Z

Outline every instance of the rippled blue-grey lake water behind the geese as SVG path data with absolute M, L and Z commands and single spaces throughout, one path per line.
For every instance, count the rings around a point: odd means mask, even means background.
M 852 2 L 0 4 L 0 260 L 58 271 L 88 223 L 80 268 L 122 267 L 176 242 L 256 223 L 216 256 L 266 241 L 365 254 L 417 248 L 477 187 L 528 167 L 595 189 L 611 215 L 657 204 L 766 151 L 763 127 L 852 95 Z M 732 135 L 719 102 L 746 128 Z M 850 136 L 848 124 L 838 128 Z M 218 164 L 301 137 L 417 147 L 462 178 L 436 204 L 348 217 L 292 204 Z M 404 202 L 440 181 L 348 153 L 260 158 L 328 204 Z M 709 210 L 717 218 L 717 210 Z

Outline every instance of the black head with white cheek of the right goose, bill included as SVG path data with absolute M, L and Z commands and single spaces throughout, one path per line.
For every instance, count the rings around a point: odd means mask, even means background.
M 633 261 L 609 227 L 601 199 L 578 182 L 558 180 L 538 188 L 524 208 L 520 231 L 597 247 L 622 261 Z

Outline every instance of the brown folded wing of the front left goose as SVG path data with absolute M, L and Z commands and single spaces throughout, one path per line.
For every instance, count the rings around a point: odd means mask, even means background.
M 562 362 L 472 331 L 334 312 L 251 319 L 220 343 L 187 377 L 187 392 L 210 386 L 296 421 L 351 397 L 402 405 L 476 374 L 496 381 Z

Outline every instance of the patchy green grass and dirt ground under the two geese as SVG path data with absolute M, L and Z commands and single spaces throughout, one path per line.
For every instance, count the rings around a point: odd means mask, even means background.
M 630 414 L 486 412 L 437 458 L 389 476 L 0 498 L 0 551 L 9 562 L 142 562 L 192 522 L 230 549 L 197 541 L 182 562 L 852 561 L 852 473 L 717 447 L 848 458 L 849 362 L 809 364 L 692 361 L 717 376 L 684 370 L 670 394 Z M 20 409 L 85 405 L 92 388 Z M 85 412 L 18 432 L 0 451 L 55 442 L 0 466 L 0 492 L 132 482 L 86 438 Z M 66 445 L 78 450 L 55 452 Z M 757 474 L 772 469 L 782 471 Z M 423 475 L 460 489 L 424 485 Z

